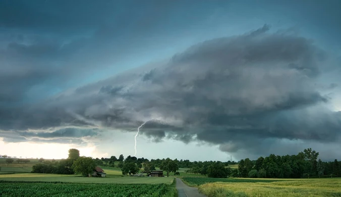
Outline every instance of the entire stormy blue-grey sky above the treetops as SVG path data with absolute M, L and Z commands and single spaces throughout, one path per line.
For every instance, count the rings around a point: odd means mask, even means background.
M 0 155 L 341 159 L 340 9 L 0 1 Z

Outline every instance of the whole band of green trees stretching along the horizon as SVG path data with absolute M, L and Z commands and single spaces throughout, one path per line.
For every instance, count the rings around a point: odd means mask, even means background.
M 79 173 L 84 176 L 91 173 L 95 166 L 116 167 L 122 170 L 123 175 L 136 174 L 143 168 L 143 172 L 149 174 L 156 167 L 163 170 L 167 176 L 169 173 L 177 172 L 179 168 L 188 168 L 186 173 L 201 174 L 213 178 L 244 177 L 244 178 L 310 178 L 310 177 L 341 177 L 341 162 L 336 159 L 334 162 L 322 162 L 317 160 L 319 153 L 311 148 L 305 149 L 297 155 L 259 157 L 257 160 L 249 158 L 239 162 L 228 161 L 194 161 L 136 158 L 128 156 L 119 158 L 87 158 L 79 157 L 79 151 L 69 150 L 68 159 L 58 161 L 44 161 L 40 158 L 39 162 L 33 166 L 35 173 L 55 173 L 55 174 L 74 174 Z M 76 162 L 79 160 L 78 162 Z M 238 164 L 238 168 L 231 168 L 230 165 Z M 82 166 L 82 167 L 79 167 Z M 82 169 L 86 169 L 83 170 Z

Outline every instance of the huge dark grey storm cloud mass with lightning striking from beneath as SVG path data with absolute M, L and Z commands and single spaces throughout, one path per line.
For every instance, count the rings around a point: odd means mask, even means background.
M 325 67 L 338 69 L 337 57 L 305 37 L 268 30 L 264 25 L 206 40 L 166 63 L 70 89 L 39 104 L 4 106 L 0 127 L 25 138 L 77 138 L 100 132 L 93 128 L 127 131 L 153 120 L 141 133 L 155 142 L 199 140 L 249 155 L 272 153 L 268 146 L 286 149 L 297 140 L 339 143 L 341 113 L 330 107 L 334 98 L 328 96 L 338 84 L 320 80 Z M 83 130 L 61 129 L 75 126 Z M 28 130 L 51 128 L 55 131 Z M 302 150 L 283 154 L 297 151 Z

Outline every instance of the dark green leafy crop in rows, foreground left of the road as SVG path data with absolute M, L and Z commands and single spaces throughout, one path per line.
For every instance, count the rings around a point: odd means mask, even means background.
M 1 183 L 0 196 L 173 196 L 167 184 Z

